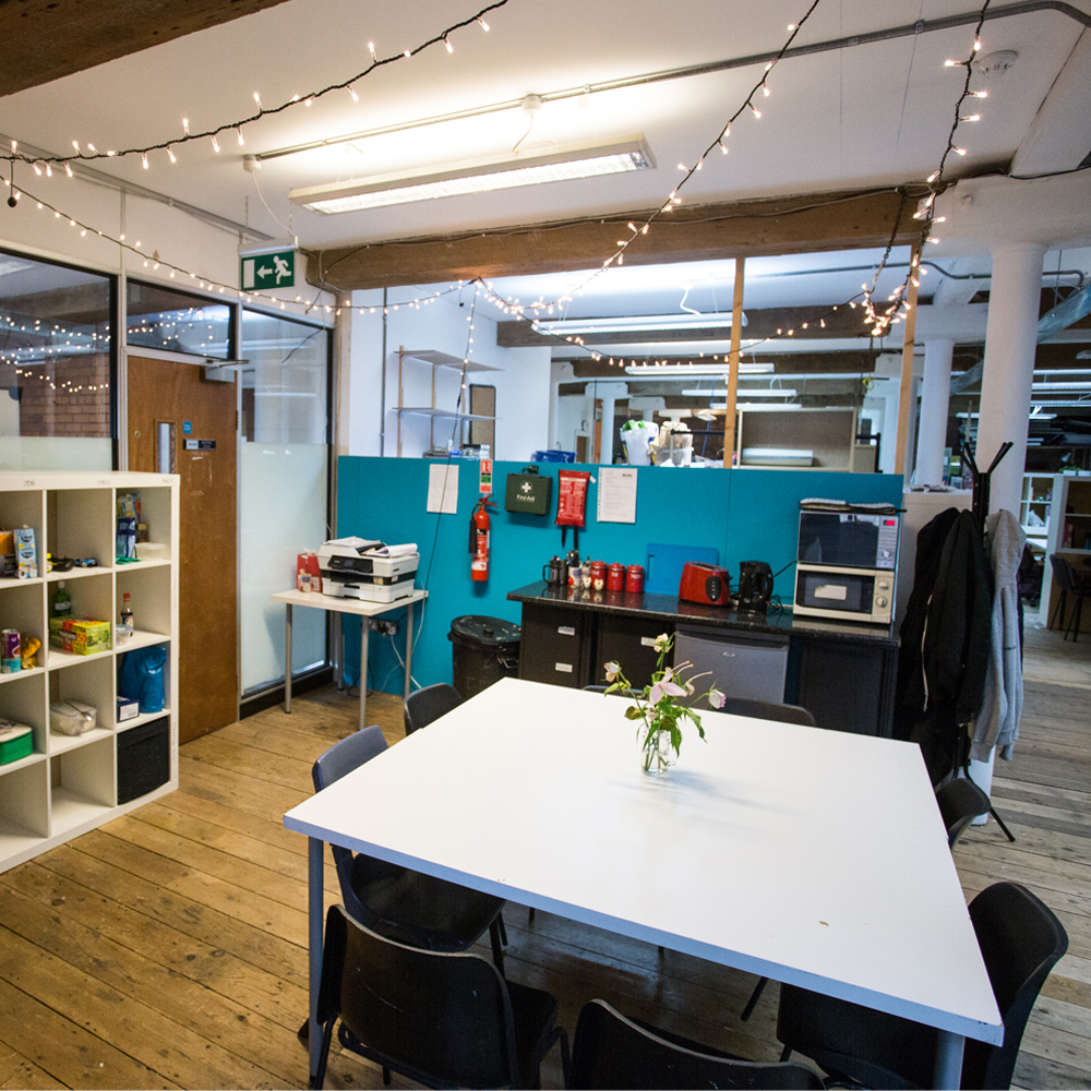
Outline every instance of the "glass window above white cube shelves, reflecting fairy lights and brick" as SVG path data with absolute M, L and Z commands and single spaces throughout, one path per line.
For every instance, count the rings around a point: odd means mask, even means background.
M 0 252 L 0 468 L 112 468 L 113 283 Z

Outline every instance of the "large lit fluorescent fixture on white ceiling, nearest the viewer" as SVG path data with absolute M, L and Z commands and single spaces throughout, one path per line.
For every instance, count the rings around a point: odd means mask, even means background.
M 372 175 L 292 190 L 288 196 L 312 212 L 326 214 L 382 208 L 465 193 L 535 185 L 572 178 L 592 178 L 656 165 L 643 133 L 608 141 L 562 144 L 544 155 L 503 155 L 467 159 L 445 167 L 425 167 L 391 175 Z

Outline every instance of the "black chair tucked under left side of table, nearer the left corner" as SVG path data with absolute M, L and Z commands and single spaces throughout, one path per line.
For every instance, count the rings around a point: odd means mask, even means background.
M 384 750 L 386 740 L 375 724 L 334 743 L 311 770 L 315 791 L 321 792 Z M 504 972 L 500 925 L 503 899 L 353 853 L 338 844 L 329 848 L 341 898 L 353 920 L 387 939 L 432 951 L 465 950 L 488 932 L 493 959 Z

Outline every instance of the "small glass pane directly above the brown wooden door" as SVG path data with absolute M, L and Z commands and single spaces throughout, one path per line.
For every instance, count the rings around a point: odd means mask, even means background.
M 232 359 L 232 310 L 205 296 L 161 285 L 125 283 L 125 341 L 134 348 Z

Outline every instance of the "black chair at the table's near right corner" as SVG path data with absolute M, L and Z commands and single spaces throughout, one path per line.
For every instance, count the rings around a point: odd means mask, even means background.
M 1068 936 L 1050 908 L 1017 883 L 995 883 L 982 890 L 970 902 L 970 919 L 1004 1018 L 1004 1044 L 967 1039 L 960 1087 L 1007 1088 L 1031 1008 L 1068 949 Z M 781 1060 L 802 1053 L 838 1081 L 874 1088 L 931 1087 L 937 1033 L 932 1027 L 794 985 L 780 988 Z

